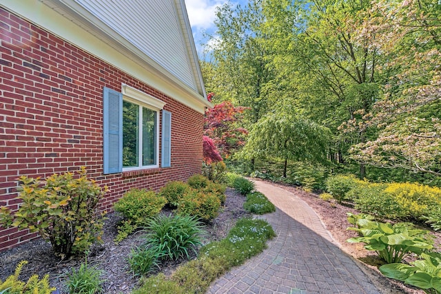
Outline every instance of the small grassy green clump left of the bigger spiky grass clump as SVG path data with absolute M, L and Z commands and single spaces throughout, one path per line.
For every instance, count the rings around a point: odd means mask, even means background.
M 136 248 L 130 251 L 128 259 L 130 269 L 134 275 L 147 275 L 154 268 L 159 268 L 162 253 L 156 248 Z

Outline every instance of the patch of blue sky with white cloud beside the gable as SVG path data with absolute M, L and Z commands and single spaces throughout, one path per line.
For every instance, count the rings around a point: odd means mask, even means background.
M 248 0 L 185 0 L 185 6 L 187 7 L 188 18 L 192 25 L 194 43 L 196 43 L 196 49 L 201 57 L 201 45 L 205 43 L 203 40 L 203 33 L 214 32 L 214 18 L 216 7 L 222 6 L 224 3 L 232 3 L 233 6 L 240 4 L 244 6 L 248 3 Z M 205 41 L 205 42 L 204 42 Z

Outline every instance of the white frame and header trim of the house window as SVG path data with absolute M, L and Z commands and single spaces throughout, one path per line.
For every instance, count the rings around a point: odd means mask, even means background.
M 161 109 L 163 109 L 165 102 L 150 96 L 140 90 L 135 89 L 134 87 L 130 87 L 128 85 L 121 85 L 121 93 L 123 94 L 123 101 L 127 101 L 130 103 L 134 103 L 139 105 L 139 145 L 138 145 L 138 166 L 137 167 L 123 167 L 123 171 L 136 171 L 139 169 L 154 169 L 159 167 L 159 116 Z M 142 165 L 143 164 L 143 145 L 142 145 L 142 136 L 143 136 L 143 107 L 148 108 L 156 112 L 156 128 L 155 128 L 155 139 L 156 139 L 156 165 Z M 124 134 L 123 134 L 124 136 Z

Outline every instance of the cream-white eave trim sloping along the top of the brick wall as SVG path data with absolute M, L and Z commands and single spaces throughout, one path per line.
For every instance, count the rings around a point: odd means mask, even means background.
M 121 36 L 118 40 L 119 35 L 115 32 L 103 32 L 101 28 L 92 26 L 85 19 L 90 16 L 83 15 L 83 19 L 80 19 L 78 15 L 66 12 L 65 5 L 60 5 L 60 1 L 49 0 L 48 3 L 52 8 L 39 0 L 0 0 L 3 8 L 118 67 L 197 112 L 204 114 L 205 107 L 212 107 L 204 94 L 185 85 L 147 55 L 129 48 L 130 44 L 121 40 Z

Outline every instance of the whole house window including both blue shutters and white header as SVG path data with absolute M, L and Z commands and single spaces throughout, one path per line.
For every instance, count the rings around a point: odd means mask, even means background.
M 104 88 L 105 174 L 159 167 L 159 116 L 165 105 L 127 85 Z M 161 165 L 170 167 L 171 114 L 163 112 Z

